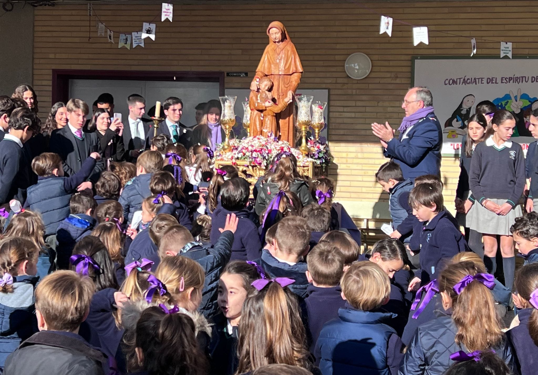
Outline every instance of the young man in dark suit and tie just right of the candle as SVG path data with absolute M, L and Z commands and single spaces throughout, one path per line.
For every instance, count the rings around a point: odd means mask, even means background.
M 157 135 L 166 134 L 172 140 L 172 143 L 181 143 L 187 150 L 192 146 L 192 131 L 180 123 L 183 115 L 183 102 L 180 98 L 171 96 L 162 103 L 165 121 L 159 123 Z M 148 141 L 153 138 L 153 129 L 148 136 Z

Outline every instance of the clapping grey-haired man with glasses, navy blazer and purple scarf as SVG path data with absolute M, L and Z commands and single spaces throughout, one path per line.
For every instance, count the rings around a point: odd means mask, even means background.
M 394 130 L 387 123 L 372 124 L 372 132 L 385 148 L 385 157 L 400 165 L 404 179 L 415 180 L 425 174 L 441 175 L 441 124 L 434 114 L 431 91 L 413 87 L 404 98 L 405 117 L 394 138 Z

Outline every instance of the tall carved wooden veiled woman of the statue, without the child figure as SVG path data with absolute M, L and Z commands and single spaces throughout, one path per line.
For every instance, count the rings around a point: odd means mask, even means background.
M 269 77 L 273 82 L 272 95 L 278 106 L 282 102 L 289 100 L 288 93 L 295 93 L 303 72 L 301 59 L 295 46 L 289 37 L 286 27 L 274 21 L 267 27 L 269 44 L 265 47 L 260 63 L 256 69 L 256 76 L 250 84 L 252 91 L 259 93 L 259 81 L 262 77 Z M 256 110 L 255 108 L 251 108 Z M 259 109 L 258 109 L 259 110 Z M 280 140 L 289 142 L 292 147 L 295 145 L 295 130 L 293 121 L 293 104 L 288 103 L 281 112 L 275 114 L 277 120 L 277 133 Z M 251 136 L 256 136 L 252 135 Z

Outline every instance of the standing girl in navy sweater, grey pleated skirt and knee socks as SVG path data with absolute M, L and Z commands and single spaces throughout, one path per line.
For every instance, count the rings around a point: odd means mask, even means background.
M 522 211 L 518 202 L 525 187 L 525 159 L 521 145 L 510 140 L 514 116 L 495 112 L 493 135 L 479 143 L 471 159 L 469 187 L 476 198 L 470 212 L 470 228 L 482 234 L 486 266 L 495 272 L 497 236 L 500 235 L 505 285 L 514 282 L 514 239 L 510 227 Z

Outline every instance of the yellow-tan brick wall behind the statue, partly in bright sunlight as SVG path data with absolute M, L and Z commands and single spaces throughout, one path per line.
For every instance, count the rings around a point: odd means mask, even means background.
M 373 174 L 384 162 L 370 124 L 401 121 L 400 103 L 411 81 L 414 55 L 468 55 L 470 40 L 440 34 L 446 31 L 476 37 L 479 55 L 499 55 L 509 40 L 515 55 L 536 54 L 538 2 L 462 1 L 368 3 L 379 13 L 409 24 L 429 26 L 429 46 L 413 47 L 410 26 L 394 22 L 392 38 L 379 35 L 379 16 L 353 3 L 293 1 L 285 4 L 221 2 L 174 6 L 174 22 L 157 19 L 155 41 L 145 48 L 117 48 L 97 37 L 91 19 L 88 41 L 87 5 L 36 8 L 34 19 L 34 88 L 42 115 L 51 102 L 52 69 L 224 70 L 247 71 L 248 78 L 226 77 L 226 88 L 249 87 L 267 44 L 265 29 L 281 20 L 301 56 L 302 88 L 329 89 L 329 140 L 335 156 L 330 176 L 337 180 L 336 197 L 355 217 L 387 217 L 386 194 Z M 160 4 L 94 4 L 95 13 L 114 31 L 132 32 L 160 14 Z M 105 33 L 106 34 L 106 33 Z M 117 42 L 118 34 L 115 34 Z M 372 72 L 363 80 L 344 72 L 345 59 L 364 52 Z M 435 93 L 433 93 L 435 99 Z M 452 208 L 459 167 L 443 158 L 446 206 Z M 376 203 L 381 200 L 381 203 Z

